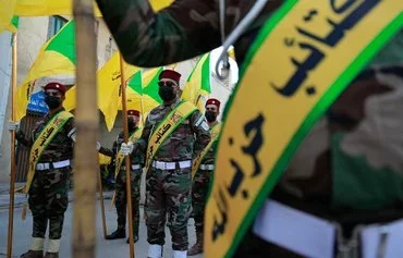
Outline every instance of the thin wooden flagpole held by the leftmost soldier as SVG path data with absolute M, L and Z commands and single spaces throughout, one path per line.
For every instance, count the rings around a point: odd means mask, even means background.
M 16 33 L 13 34 L 12 74 L 11 74 L 11 120 L 15 122 L 15 90 L 16 90 Z M 11 258 L 13 247 L 14 225 L 14 189 L 15 189 L 15 131 L 11 131 L 11 168 L 10 168 L 10 204 L 9 204 L 9 234 L 7 242 L 7 258 Z

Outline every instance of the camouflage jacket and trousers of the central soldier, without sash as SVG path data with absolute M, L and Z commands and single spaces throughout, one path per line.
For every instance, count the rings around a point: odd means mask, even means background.
M 179 102 L 176 99 L 172 105 L 161 105 L 150 111 L 142 138 L 135 143 L 135 149 L 146 151 L 152 130 Z M 155 161 L 176 162 L 176 165 L 174 170 L 150 165 L 147 172 L 145 214 L 149 244 L 164 245 L 168 213 L 172 248 L 187 250 L 187 220 L 192 212 L 192 173 L 191 167 L 180 168 L 179 162 L 191 161 L 209 140 L 208 124 L 204 115 L 196 110 L 168 136 L 156 152 Z

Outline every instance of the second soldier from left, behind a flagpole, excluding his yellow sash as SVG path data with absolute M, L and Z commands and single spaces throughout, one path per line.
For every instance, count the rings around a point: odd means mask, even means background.
M 139 112 L 137 110 L 127 110 L 127 127 L 129 127 L 129 135 L 132 135 L 138 130 L 138 122 L 139 122 Z M 107 149 L 100 147 L 99 152 L 106 155 L 108 157 L 113 158 L 113 164 L 115 163 L 117 153 L 119 151 L 120 146 L 123 143 L 123 132 L 119 134 L 117 139 L 113 142 L 112 149 Z M 141 182 L 142 182 L 142 172 L 144 165 L 144 157 L 142 153 L 138 155 L 131 155 L 131 186 L 132 186 L 132 218 L 133 218 L 133 242 L 136 243 L 138 241 L 138 223 L 139 223 L 139 197 L 141 197 Z M 114 168 L 112 169 L 112 173 L 114 174 Z M 115 207 L 118 213 L 118 229 L 107 235 L 107 239 L 118 239 L 126 237 L 126 204 L 127 204 L 127 195 L 126 195 L 126 169 L 123 163 L 120 168 L 119 174 L 115 181 Z M 129 238 L 126 241 L 129 244 Z

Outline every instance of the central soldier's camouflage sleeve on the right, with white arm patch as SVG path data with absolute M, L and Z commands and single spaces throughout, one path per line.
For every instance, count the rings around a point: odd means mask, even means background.
M 211 135 L 206 118 L 199 111 L 192 114 L 191 124 L 196 136 L 193 148 L 193 158 L 195 158 L 208 145 L 211 139 Z

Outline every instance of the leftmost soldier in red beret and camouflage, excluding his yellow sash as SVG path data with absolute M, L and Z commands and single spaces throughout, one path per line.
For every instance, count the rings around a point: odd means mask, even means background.
M 32 135 L 26 137 L 22 131 L 16 133 L 16 139 L 32 147 L 47 123 L 59 112 L 64 111 L 65 86 L 49 83 L 45 87 L 45 102 L 49 113 L 37 123 Z M 10 123 L 10 130 L 16 130 L 15 123 Z M 59 257 L 60 238 L 62 236 L 64 212 L 69 205 L 69 181 L 72 171 L 73 142 L 75 127 L 70 119 L 40 156 L 35 175 L 28 192 L 29 209 L 34 218 L 32 244 L 21 258 L 42 258 L 45 233 L 49 222 L 49 247 L 46 258 Z

